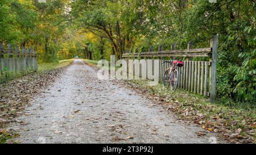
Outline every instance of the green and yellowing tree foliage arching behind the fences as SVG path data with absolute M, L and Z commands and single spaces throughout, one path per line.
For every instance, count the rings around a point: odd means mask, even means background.
M 0 14 L 0 42 L 36 47 L 39 62 L 109 60 L 150 45 L 184 49 L 190 40 L 209 47 L 218 33 L 217 97 L 255 103 L 253 0 L 2 0 Z

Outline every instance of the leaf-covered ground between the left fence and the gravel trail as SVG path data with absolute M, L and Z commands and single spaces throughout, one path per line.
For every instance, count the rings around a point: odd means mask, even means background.
M 59 68 L 32 73 L 0 85 L 0 143 L 8 143 L 8 139 L 16 136 L 13 131 L 5 129 L 6 125 L 22 115 L 24 106 L 31 97 L 51 85 L 63 70 L 64 68 Z

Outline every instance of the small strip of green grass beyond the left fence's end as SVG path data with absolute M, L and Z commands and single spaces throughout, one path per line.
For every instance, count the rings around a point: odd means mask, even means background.
M 53 70 L 53 69 L 58 69 L 65 67 L 69 64 L 71 64 L 74 61 L 74 59 L 69 59 L 69 60 L 61 60 L 59 63 L 52 62 L 52 63 L 47 63 L 47 64 L 38 64 L 38 71 L 46 71 L 46 70 Z

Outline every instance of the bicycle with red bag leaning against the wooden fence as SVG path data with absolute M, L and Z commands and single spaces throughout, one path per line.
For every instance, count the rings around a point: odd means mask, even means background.
M 183 62 L 182 61 L 166 61 L 164 60 L 162 62 L 162 65 L 164 63 L 168 63 L 170 64 L 170 66 L 166 69 L 166 71 L 163 74 L 163 87 L 165 87 L 166 89 L 168 89 L 168 87 L 171 87 L 172 91 L 175 91 L 177 89 L 177 82 L 179 81 L 179 73 L 177 72 L 177 68 L 178 67 L 182 67 L 183 66 Z

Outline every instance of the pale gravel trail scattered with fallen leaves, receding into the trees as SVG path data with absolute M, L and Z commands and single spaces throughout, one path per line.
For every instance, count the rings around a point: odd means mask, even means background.
M 18 123 L 19 143 L 209 143 L 162 106 L 75 60 L 52 87 L 34 98 Z

